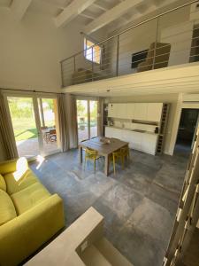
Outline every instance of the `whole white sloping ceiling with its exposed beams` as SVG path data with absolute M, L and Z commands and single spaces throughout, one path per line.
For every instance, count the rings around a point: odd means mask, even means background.
M 20 6 L 22 17 L 25 12 L 35 12 L 55 18 L 57 27 L 72 20 L 85 25 L 84 32 L 91 34 L 102 27 L 113 29 L 124 27 L 129 22 L 142 19 L 149 12 L 186 0 L 0 0 L 1 8 Z M 28 4 L 27 4 L 28 2 Z M 188 1 L 187 1 L 188 2 Z M 20 19 L 22 18 L 20 16 Z

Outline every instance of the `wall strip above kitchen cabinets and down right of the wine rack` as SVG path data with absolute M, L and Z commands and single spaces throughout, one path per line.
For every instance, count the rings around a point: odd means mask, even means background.
M 128 97 L 119 97 L 119 98 L 107 98 L 106 100 L 111 103 L 127 103 L 127 102 L 137 102 L 137 103 L 169 103 L 169 118 L 165 132 L 165 149 L 164 153 L 172 155 L 172 138 L 174 128 L 173 123 L 175 122 L 177 103 L 178 103 L 178 94 L 159 94 L 159 95 L 146 95 L 146 96 L 128 96 Z

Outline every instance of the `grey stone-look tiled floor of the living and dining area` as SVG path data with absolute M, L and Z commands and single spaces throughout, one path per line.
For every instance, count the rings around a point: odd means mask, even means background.
M 64 200 L 66 226 L 93 206 L 104 216 L 107 239 L 134 266 L 162 265 L 188 159 L 131 151 L 116 176 L 103 175 L 103 159 L 96 173 L 78 159 L 73 150 L 46 158 L 39 169 L 32 164 L 42 184 Z

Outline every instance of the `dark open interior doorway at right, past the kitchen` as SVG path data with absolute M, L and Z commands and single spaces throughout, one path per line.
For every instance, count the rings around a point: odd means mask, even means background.
M 182 109 L 174 153 L 188 156 L 192 150 L 199 109 Z

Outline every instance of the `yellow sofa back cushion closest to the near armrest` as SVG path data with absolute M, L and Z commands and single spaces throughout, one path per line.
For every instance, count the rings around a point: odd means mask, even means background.
M 0 190 L 0 225 L 9 222 L 17 216 L 15 207 L 9 195 Z

